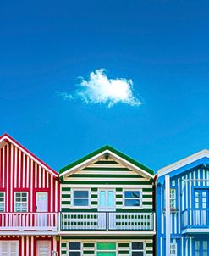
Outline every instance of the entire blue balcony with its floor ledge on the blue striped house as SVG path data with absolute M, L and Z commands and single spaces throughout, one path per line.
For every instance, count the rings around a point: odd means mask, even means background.
M 209 209 L 185 209 L 183 233 L 209 233 Z

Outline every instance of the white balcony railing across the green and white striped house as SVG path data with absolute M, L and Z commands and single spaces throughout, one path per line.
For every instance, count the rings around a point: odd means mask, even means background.
M 61 231 L 154 231 L 154 213 L 71 212 L 60 214 Z

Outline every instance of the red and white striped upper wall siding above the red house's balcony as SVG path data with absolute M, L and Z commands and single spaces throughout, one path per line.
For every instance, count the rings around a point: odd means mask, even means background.
M 14 211 L 14 192 L 28 192 L 28 211 L 36 211 L 36 192 L 48 192 L 49 212 L 58 212 L 59 182 L 13 144 L 0 149 L 0 191 L 5 192 L 6 212 Z

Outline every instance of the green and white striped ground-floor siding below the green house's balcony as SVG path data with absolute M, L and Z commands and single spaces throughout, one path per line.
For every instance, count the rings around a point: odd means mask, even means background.
M 91 240 L 90 240 L 91 239 Z M 99 241 L 100 240 L 100 241 Z M 81 242 L 83 246 L 82 253 L 83 255 L 92 255 L 96 256 L 96 242 L 116 242 L 117 244 L 117 255 L 123 255 L 123 256 L 129 256 L 130 255 L 130 248 L 131 248 L 131 242 L 144 242 L 145 248 L 146 248 L 146 254 L 152 256 L 153 255 L 153 237 L 146 237 L 146 239 L 141 239 L 140 237 L 134 237 L 132 239 L 129 239 L 129 237 L 126 237 L 126 239 L 121 239 L 117 237 L 117 240 L 113 239 L 107 239 L 104 237 L 98 237 L 97 240 L 92 239 L 92 237 L 86 237 L 85 239 L 76 239 L 76 237 L 62 237 L 61 242 L 61 255 L 67 256 L 68 252 L 68 243 L 69 242 Z

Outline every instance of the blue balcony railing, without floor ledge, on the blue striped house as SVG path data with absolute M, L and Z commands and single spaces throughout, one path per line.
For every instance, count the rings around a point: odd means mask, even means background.
M 183 211 L 183 227 L 209 228 L 209 209 L 185 209 Z

